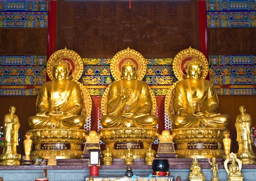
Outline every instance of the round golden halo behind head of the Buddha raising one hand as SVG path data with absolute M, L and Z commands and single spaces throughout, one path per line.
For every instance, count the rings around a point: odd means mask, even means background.
M 116 55 L 114 55 L 112 58 L 110 70 L 113 78 L 115 80 L 121 80 L 122 66 L 128 64 L 128 62 L 130 62 L 131 65 L 136 65 L 137 80 L 142 80 L 146 74 L 146 60 L 139 52 L 130 49 L 129 47 L 117 52 Z

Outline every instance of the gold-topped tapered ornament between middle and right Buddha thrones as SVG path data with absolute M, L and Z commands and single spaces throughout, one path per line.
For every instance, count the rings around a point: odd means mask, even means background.
M 159 139 L 157 157 L 159 158 L 173 158 L 177 156 L 173 145 L 173 138 L 175 135 L 170 135 L 168 130 L 163 130 L 162 134 L 157 134 Z

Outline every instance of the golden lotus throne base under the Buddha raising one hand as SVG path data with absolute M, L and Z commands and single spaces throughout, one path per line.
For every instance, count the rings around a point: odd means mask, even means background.
M 145 158 L 148 147 L 151 147 L 157 138 L 158 129 L 142 128 L 142 127 L 120 127 L 120 128 L 104 128 L 99 130 L 102 134 L 101 140 L 106 144 L 105 148 L 109 148 L 112 158 L 125 158 L 127 149 L 115 149 L 115 143 L 143 143 L 143 149 L 131 149 L 133 158 Z M 103 151 L 104 154 L 105 150 Z

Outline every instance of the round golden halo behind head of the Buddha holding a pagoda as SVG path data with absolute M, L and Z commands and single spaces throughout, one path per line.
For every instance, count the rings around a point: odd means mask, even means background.
M 186 75 L 186 67 L 189 61 L 195 61 L 197 59 L 199 62 L 203 65 L 203 75 L 202 78 L 206 78 L 208 71 L 209 71 L 209 63 L 207 58 L 204 56 L 204 54 L 196 49 L 192 49 L 190 46 L 188 49 L 184 49 L 181 52 L 179 52 L 174 60 L 173 60 L 173 71 L 178 80 L 183 80 L 187 78 Z M 191 65 L 189 63 L 189 65 Z

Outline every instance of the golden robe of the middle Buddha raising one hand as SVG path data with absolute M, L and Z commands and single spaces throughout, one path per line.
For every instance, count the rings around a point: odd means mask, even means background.
M 148 85 L 140 80 L 137 81 L 137 89 L 132 90 L 127 100 L 122 100 L 121 81 L 111 83 L 108 92 L 108 115 L 103 115 L 101 124 L 104 128 L 125 127 L 128 123 L 133 127 L 154 128 L 158 124 L 158 117 L 150 115 L 152 102 Z M 135 82 L 134 82 L 135 83 Z M 124 87 L 125 88 L 125 87 Z M 124 106 L 130 105 L 130 112 L 139 113 L 138 118 L 125 118 Z

